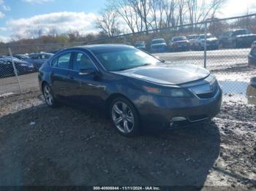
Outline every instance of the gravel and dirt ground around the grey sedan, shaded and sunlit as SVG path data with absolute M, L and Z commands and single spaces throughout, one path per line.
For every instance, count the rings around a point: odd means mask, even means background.
M 39 92 L 0 98 L 0 105 L 1 186 L 256 190 L 256 106 L 225 102 L 213 122 L 127 139 L 104 115 L 50 109 Z

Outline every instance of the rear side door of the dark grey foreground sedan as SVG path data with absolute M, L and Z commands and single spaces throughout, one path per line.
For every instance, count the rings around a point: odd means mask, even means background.
M 68 99 L 70 94 L 67 84 L 71 59 L 72 52 L 64 52 L 51 62 L 50 79 L 53 93 L 64 101 Z

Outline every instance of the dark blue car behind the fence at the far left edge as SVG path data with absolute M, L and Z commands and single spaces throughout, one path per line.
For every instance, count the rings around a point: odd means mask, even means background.
M 18 75 L 29 74 L 35 71 L 34 66 L 31 63 L 20 61 L 17 58 L 5 57 L 0 58 L 0 77 L 12 77 L 15 76 L 15 72 L 12 66 L 12 59 L 17 69 Z

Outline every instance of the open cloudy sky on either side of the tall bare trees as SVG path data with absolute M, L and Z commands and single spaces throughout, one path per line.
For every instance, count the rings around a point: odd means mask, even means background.
M 26 36 L 31 28 L 44 33 L 53 28 L 83 34 L 95 32 L 95 20 L 108 0 L 0 0 L 0 42 L 12 36 Z M 210 0 L 204 0 L 210 1 Z M 256 0 L 227 0 L 219 17 L 244 15 L 246 10 L 256 13 Z

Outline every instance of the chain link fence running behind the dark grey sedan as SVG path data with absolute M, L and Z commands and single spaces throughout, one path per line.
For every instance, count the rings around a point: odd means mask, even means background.
M 159 44 L 158 47 L 154 46 L 152 39 L 162 39 L 166 45 L 162 45 L 164 48 Z M 254 41 L 256 14 L 207 20 L 193 25 L 151 30 L 148 34 L 126 34 L 91 42 L 1 46 L 0 97 L 38 90 L 39 66 L 58 50 L 85 44 L 112 43 L 140 44 L 139 48 L 157 55 L 166 63 L 189 63 L 206 67 L 219 80 L 225 100 L 256 104 L 252 103 L 256 88 L 250 85 L 250 79 L 256 77 L 256 69 L 248 65 Z

